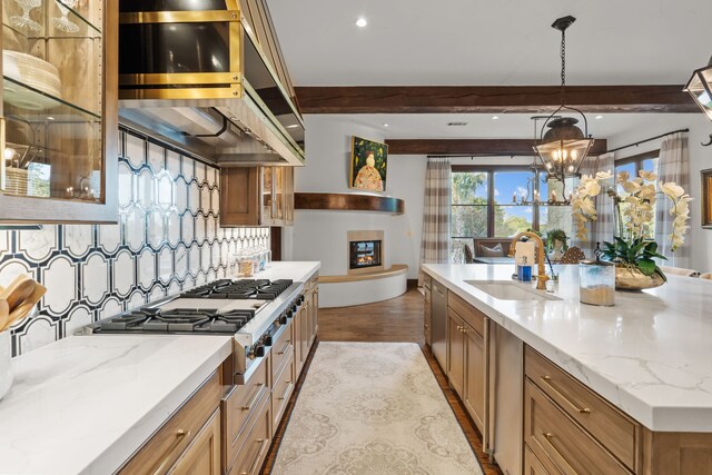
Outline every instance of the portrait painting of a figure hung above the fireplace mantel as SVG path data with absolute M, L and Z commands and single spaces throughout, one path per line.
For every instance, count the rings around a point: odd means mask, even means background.
M 366 191 L 385 191 L 387 164 L 387 145 L 354 136 L 348 187 Z

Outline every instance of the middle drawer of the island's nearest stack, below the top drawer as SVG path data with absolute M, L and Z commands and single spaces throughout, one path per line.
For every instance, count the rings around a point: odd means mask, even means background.
M 524 442 L 540 459 L 573 474 L 630 472 L 531 380 L 524 386 Z

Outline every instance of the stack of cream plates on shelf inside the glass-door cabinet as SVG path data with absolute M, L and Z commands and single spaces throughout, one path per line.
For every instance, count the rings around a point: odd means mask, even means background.
M 2 71 L 10 79 L 46 95 L 61 99 L 59 71 L 50 62 L 18 51 L 2 51 Z M 4 83 L 4 100 L 23 109 L 39 110 L 57 107 L 51 98 L 34 93 L 10 81 Z

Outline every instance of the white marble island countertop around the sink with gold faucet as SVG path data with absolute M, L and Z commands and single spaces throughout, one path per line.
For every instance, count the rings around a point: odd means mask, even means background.
M 497 300 L 466 280 L 511 280 L 513 267 L 424 265 L 451 291 L 652 431 L 712 432 L 712 281 L 668 276 L 614 307 L 578 301 L 578 267 L 562 300 Z

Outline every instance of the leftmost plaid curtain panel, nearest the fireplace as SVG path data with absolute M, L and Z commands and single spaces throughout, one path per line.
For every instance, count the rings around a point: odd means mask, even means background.
M 428 158 L 425 171 L 421 264 L 446 264 L 449 260 L 451 177 L 449 158 Z M 418 286 L 422 285 L 423 271 L 418 271 Z

